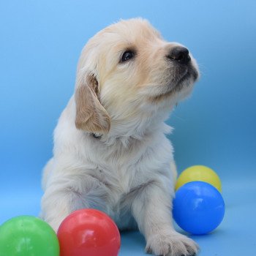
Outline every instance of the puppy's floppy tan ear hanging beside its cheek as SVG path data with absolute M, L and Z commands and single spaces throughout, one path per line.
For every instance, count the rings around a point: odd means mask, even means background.
M 91 72 L 80 72 L 75 88 L 75 127 L 87 132 L 107 133 L 110 116 L 99 102 L 98 82 Z

